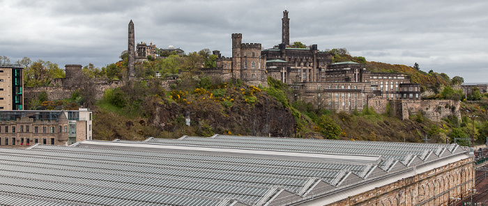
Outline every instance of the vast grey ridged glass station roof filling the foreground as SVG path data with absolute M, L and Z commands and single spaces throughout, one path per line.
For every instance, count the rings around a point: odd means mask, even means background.
M 0 152 L 0 205 L 326 205 L 469 157 L 457 144 L 228 135 Z

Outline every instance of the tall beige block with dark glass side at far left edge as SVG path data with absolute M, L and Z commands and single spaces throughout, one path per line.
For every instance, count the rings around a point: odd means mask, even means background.
M 23 109 L 23 70 L 16 65 L 0 65 L 0 111 Z

